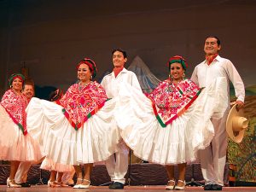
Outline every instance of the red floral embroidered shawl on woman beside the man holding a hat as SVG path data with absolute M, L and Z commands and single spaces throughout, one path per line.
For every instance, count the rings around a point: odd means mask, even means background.
M 186 79 L 173 84 L 169 79 L 162 81 L 148 98 L 153 102 L 154 113 L 162 126 L 172 123 L 195 101 L 201 89 Z

